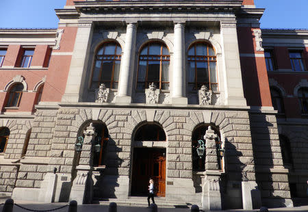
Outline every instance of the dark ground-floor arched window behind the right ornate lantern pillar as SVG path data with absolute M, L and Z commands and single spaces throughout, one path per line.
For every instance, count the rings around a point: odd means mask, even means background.
M 201 125 L 194 129 L 192 133 L 192 170 L 194 171 L 204 171 L 205 170 L 205 153 L 203 157 L 199 157 L 197 153 L 197 148 L 199 147 L 198 140 L 203 140 L 205 144 L 205 140 L 203 139 L 205 132 L 209 125 Z M 218 135 L 216 139 L 216 148 L 220 148 L 222 142 L 220 140 L 220 133 L 216 130 L 216 128 L 212 127 L 215 133 Z M 217 159 L 218 159 L 218 169 L 222 170 L 222 155 L 217 151 Z

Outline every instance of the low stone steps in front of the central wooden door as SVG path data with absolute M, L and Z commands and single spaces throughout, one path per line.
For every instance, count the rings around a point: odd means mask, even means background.
M 182 208 L 189 209 L 193 204 L 197 204 L 201 207 L 201 202 L 171 202 L 166 201 L 164 197 L 155 197 L 155 204 L 158 208 Z M 146 196 L 130 196 L 128 199 L 109 198 L 99 200 L 99 204 L 109 205 L 110 202 L 116 202 L 118 206 L 129 207 L 148 207 L 148 201 Z M 152 201 L 150 200 L 152 203 Z

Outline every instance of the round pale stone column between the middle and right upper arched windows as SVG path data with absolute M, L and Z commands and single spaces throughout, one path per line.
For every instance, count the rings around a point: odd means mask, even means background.
M 185 97 L 185 34 L 184 22 L 175 22 L 173 51 L 172 104 L 188 104 Z

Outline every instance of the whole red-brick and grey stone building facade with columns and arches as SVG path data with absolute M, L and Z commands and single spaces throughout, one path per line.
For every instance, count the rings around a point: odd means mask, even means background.
M 1 194 L 129 199 L 152 177 L 157 196 L 203 209 L 305 198 L 307 69 L 284 56 L 307 64 L 307 30 L 259 29 L 252 0 L 68 0 L 55 12 L 58 29 L 0 30 Z M 285 100 L 281 114 L 273 87 L 302 112 Z

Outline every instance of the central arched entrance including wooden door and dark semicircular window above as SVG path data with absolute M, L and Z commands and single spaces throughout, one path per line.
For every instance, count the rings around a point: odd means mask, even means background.
M 146 196 L 149 179 L 153 178 L 157 196 L 166 194 L 166 148 L 154 143 L 166 142 L 166 134 L 157 124 L 145 124 L 134 137 L 137 145 L 133 148 L 133 172 L 131 176 L 131 196 Z M 149 147 L 146 143 L 154 144 Z

